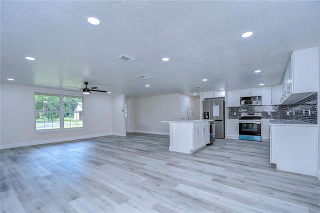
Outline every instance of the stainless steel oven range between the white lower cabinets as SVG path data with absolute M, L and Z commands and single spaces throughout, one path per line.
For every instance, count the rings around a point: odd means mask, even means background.
M 241 113 L 239 139 L 261 141 L 261 112 Z

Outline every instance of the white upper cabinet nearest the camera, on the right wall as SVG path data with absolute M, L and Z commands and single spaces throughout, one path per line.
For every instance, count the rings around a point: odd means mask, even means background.
M 282 104 L 294 103 L 318 91 L 318 50 L 312 47 L 293 51 L 282 78 Z

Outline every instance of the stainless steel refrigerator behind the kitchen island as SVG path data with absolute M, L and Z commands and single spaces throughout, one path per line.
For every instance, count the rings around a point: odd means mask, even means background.
M 224 138 L 224 98 L 202 101 L 203 119 L 215 119 L 215 138 Z

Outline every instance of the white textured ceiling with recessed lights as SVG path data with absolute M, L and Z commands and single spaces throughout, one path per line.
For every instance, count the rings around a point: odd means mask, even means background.
M 88 81 L 128 97 L 275 85 L 290 52 L 319 45 L 319 5 L 1 0 L 1 82 L 66 90 Z M 89 15 L 101 23 L 89 24 Z

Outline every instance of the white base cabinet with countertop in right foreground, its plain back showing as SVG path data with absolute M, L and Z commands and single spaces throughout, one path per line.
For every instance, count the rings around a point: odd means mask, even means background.
M 317 125 L 270 123 L 270 163 L 276 169 L 316 176 Z

